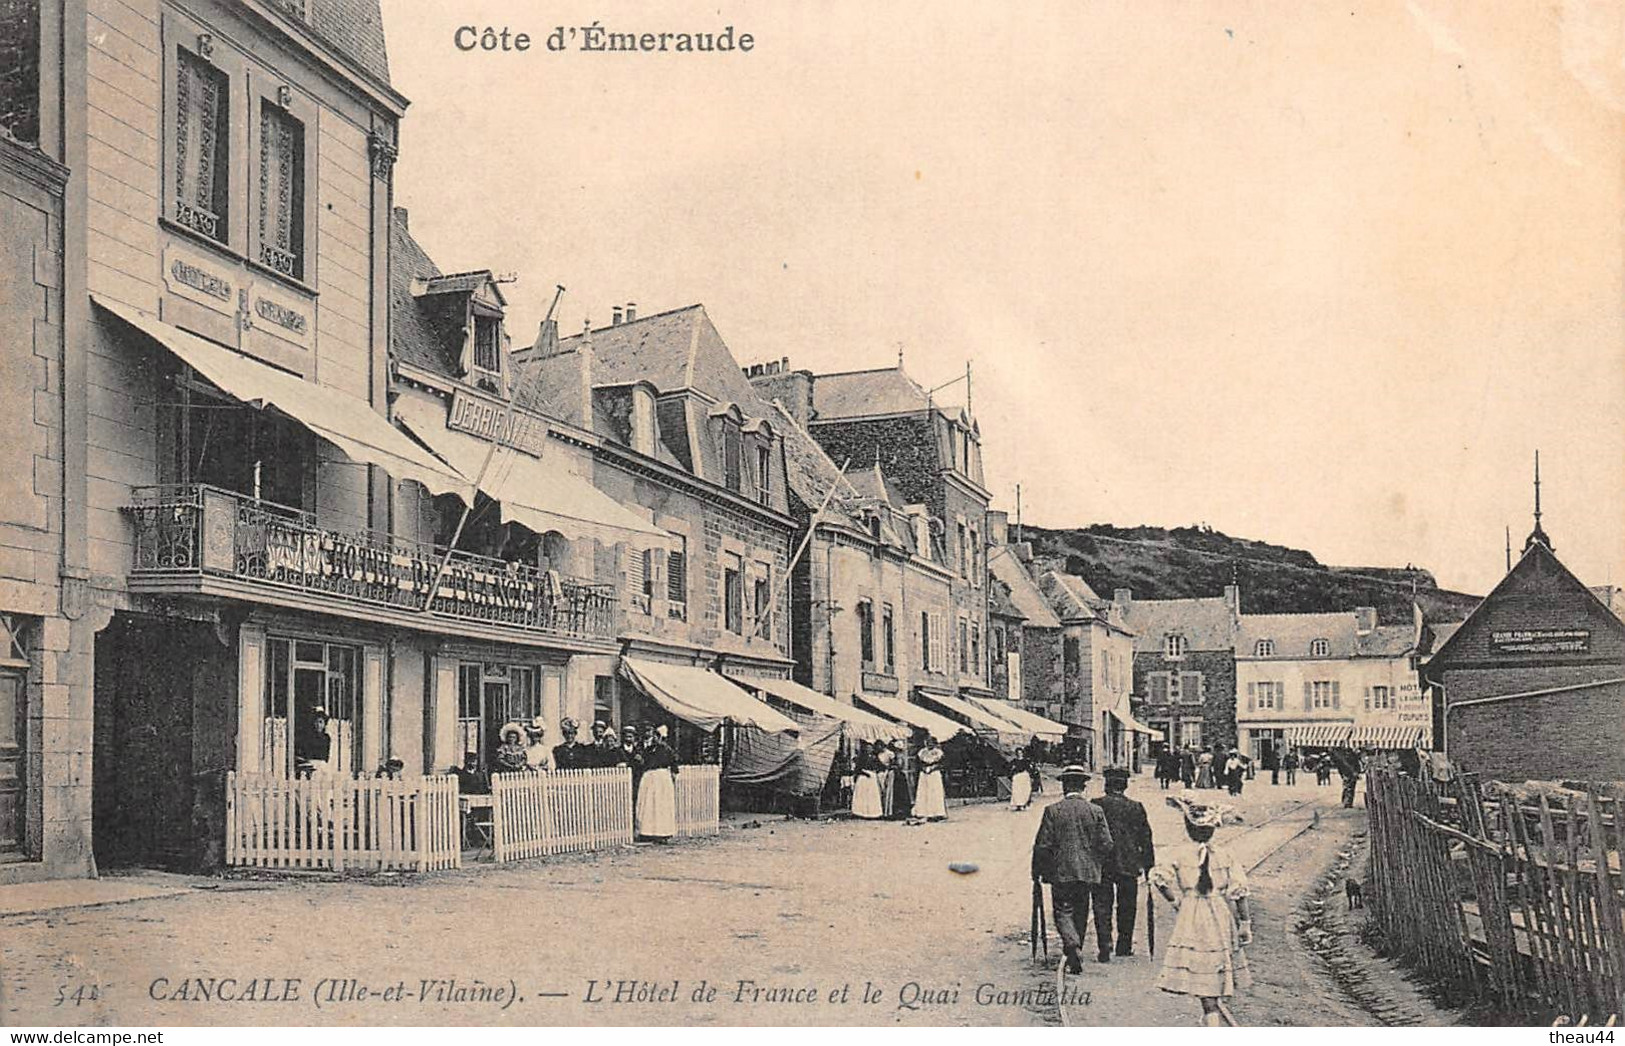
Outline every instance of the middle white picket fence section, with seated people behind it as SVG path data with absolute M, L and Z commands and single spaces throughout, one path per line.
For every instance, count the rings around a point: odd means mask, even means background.
M 491 775 L 491 856 L 520 861 L 632 841 L 626 767 Z

